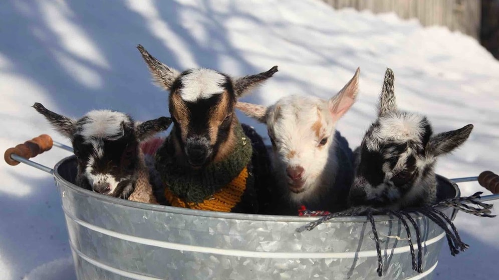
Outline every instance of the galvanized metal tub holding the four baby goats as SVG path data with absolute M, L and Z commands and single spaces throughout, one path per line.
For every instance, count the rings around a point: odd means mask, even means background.
M 424 216 L 423 272 L 412 270 L 405 228 L 375 216 L 383 276 L 366 217 L 253 215 L 152 205 L 98 194 L 71 183 L 74 156 L 54 167 L 79 280 L 96 279 L 431 279 L 445 233 Z M 438 176 L 439 196 L 460 195 Z M 443 210 L 454 217 L 453 209 Z M 411 227 L 414 236 L 414 229 Z

